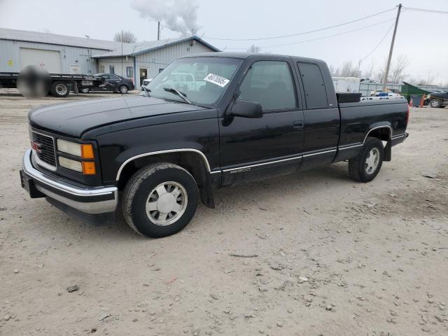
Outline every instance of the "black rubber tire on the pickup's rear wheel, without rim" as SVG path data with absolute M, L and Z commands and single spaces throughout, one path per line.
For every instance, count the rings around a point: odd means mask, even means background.
M 374 150 L 376 148 L 376 151 Z M 378 155 L 376 167 L 367 165 L 367 159 L 370 159 L 371 151 Z M 374 158 L 374 155 L 372 155 Z M 379 173 L 384 159 L 384 146 L 381 140 L 377 138 L 368 137 L 361 151 L 356 158 L 349 160 L 349 174 L 355 181 L 369 182 L 372 181 Z

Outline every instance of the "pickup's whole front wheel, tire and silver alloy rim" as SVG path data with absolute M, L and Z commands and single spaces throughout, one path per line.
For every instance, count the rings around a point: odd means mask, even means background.
M 186 169 L 171 163 L 141 168 L 123 192 L 125 221 L 140 235 L 160 238 L 179 232 L 197 208 L 197 185 Z

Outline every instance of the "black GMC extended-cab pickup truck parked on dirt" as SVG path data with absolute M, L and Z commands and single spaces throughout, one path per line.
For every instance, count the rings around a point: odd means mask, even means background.
M 175 73 L 193 74 L 193 83 Z M 318 59 L 216 52 L 176 60 L 140 96 L 29 112 L 21 182 L 87 214 L 120 209 L 141 235 L 184 228 L 214 188 L 348 160 L 368 182 L 407 137 L 405 99 L 335 94 Z

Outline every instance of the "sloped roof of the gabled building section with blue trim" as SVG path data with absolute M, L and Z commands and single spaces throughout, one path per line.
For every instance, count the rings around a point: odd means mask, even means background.
M 169 38 L 166 40 L 160 40 L 160 41 L 144 41 L 144 42 L 138 42 L 138 43 L 123 43 L 123 52 L 121 50 L 122 45 L 119 43 L 118 48 L 115 48 L 111 52 L 104 52 L 99 53 L 97 55 L 92 55 L 94 58 L 105 58 L 105 57 L 121 57 L 121 56 L 136 56 L 139 54 L 143 54 L 144 52 L 165 48 L 168 45 L 173 45 L 176 43 L 186 42 L 186 41 L 197 41 L 199 43 L 202 43 L 203 45 L 206 45 L 211 50 L 214 51 L 220 51 L 218 48 L 214 47 L 213 45 L 207 43 L 206 41 L 202 40 L 202 38 L 198 36 L 188 36 L 188 37 L 181 37 L 181 38 Z

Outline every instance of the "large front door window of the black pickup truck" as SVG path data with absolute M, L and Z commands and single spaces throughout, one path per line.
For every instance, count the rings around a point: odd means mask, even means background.
M 287 62 L 255 62 L 239 87 L 239 100 L 261 104 L 263 111 L 296 107 L 293 77 Z

